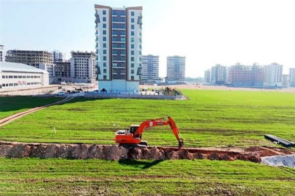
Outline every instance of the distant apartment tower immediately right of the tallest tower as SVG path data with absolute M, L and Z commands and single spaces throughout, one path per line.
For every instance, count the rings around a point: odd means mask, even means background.
M 161 83 L 161 78 L 159 78 L 159 56 L 148 54 L 142 57 L 142 82 Z

